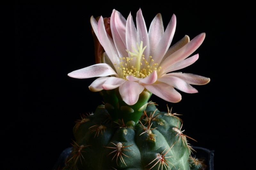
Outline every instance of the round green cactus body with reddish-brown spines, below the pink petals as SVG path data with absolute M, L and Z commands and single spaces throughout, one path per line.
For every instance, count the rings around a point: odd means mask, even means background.
M 63 169 L 200 169 L 191 159 L 192 148 L 182 134 L 180 118 L 169 109 L 160 112 L 154 103 L 148 103 L 150 94 L 147 93 L 140 95 L 139 104 L 126 106 L 118 103 L 114 91 L 102 92 L 105 105 L 76 122 L 73 151 Z M 139 116 L 127 116 L 131 114 Z

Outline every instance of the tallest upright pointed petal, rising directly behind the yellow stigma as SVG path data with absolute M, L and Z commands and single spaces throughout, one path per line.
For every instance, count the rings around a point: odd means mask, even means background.
M 143 54 L 145 55 L 145 58 L 148 59 L 149 57 L 149 40 L 148 40 L 148 30 L 146 27 L 145 20 L 142 16 L 142 11 L 139 9 L 136 16 L 136 26 L 137 26 L 137 32 L 138 32 L 138 38 L 137 42 L 140 44 L 140 41 L 143 42 L 143 47 L 147 46 L 147 48 L 144 50 Z

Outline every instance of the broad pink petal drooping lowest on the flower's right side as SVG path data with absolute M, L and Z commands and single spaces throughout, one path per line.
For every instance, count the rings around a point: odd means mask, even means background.
M 154 83 L 151 85 L 144 85 L 144 87 L 155 94 L 156 96 L 172 102 L 177 103 L 181 100 L 181 94 L 177 92 L 171 85 L 165 83 Z

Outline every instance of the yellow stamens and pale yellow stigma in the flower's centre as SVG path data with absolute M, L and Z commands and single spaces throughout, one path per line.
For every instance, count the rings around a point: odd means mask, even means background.
M 131 57 L 120 58 L 120 66 L 117 67 L 119 78 L 123 78 L 125 80 L 127 80 L 127 76 L 145 78 L 149 76 L 154 70 L 160 71 L 161 67 L 157 69 L 158 63 L 154 63 L 152 56 L 149 56 L 148 59 L 145 59 L 143 52 L 146 47 L 147 46 L 143 47 L 143 42 L 140 41 L 140 45 L 137 42 L 138 50 L 132 47 L 134 53 L 126 50 L 127 53 L 131 55 Z

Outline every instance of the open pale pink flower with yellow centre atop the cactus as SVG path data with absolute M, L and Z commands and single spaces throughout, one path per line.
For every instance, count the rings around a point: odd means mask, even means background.
M 119 88 L 124 102 L 134 105 L 140 93 L 148 90 L 176 103 L 181 100 L 181 94 L 176 89 L 196 93 L 198 91 L 191 85 L 210 82 L 210 78 L 203 76 L 174 72 L 196 62 L 199 55 L 190 55 L 205 38 L 205 33 L 201 33 L 190 41 L 185 35 L 170 47 L 176 28 L 174 14 L 165 30 L 159 13 L 147 31 L 141 9 L 137 12 L 136 26 L 131 13 L 126 20 L 114 9 L 110 17 L 111 35 L 109 30 L 106 31 L 102 16 L 98 21 L 92 16 L 91 25 L 105 51 L 101 56 L 102 63 L 72 71 L 68 76 L 99 77 L 89 86 L 93 92 Z

